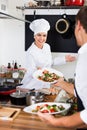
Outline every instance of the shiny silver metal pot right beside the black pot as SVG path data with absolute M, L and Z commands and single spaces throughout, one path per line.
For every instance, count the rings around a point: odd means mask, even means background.
M 35 103 L 42 102 L 44 100 L 44 94 L 38 91 L 29 92 L 26 94 L 26 104 L 32 105 Z

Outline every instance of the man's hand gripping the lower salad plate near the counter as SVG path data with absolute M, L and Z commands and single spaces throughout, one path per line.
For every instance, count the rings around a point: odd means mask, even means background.
M 51 114 L 48 114 L 48 113 L 41 113 L 41 112 L 38 112 L 37 113 L 39 118 L 44 121 L 46 124 L 50 124 L 50 125 L 53 125 L 55 124 L 55 121 L 56 121 L 56 118 L 54 118 L 54 116 L 52 116 Z

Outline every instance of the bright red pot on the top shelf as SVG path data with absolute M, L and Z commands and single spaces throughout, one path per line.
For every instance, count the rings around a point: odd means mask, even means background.
M 76 6 L 83 6 L 84 0 L 65 0 L 64 5 L 76 5 Z

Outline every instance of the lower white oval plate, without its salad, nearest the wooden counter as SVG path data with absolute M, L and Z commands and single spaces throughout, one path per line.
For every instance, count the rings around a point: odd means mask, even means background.
M 34 110 L 36 108 L 36 106 L 39 106 L 39 105 L 43 105 L 43 104 L 48 104 L 48 105 L 63 105 L 63 107 L 65 108 L 64 110 L 62 111 L 58 111 L 58 112 L 52 112 L 50 114 L 61 114 L 61 113 L 64 113 L 64 112 L 68 112 L 68 110 L 70 109 L 71 107 L 71 104 L 69 103 L 57 103 L 57 102 L 42 102 L 42 103 L 37 103 L 37 104 L 33 104 L 33 105 L 30 105 L 30 106 L 27 106 L 23 109 L 24 112 L 27 112 L 27 113 L 31 113 L 31 114 L 37 114 L 37 112 L 32 112 L 32 110 Z

